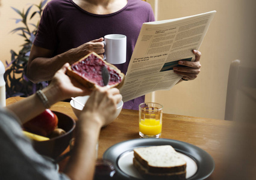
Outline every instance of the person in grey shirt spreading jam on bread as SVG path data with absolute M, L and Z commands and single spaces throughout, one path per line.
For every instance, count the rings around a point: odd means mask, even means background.
M 101 127 L 114 120 L 116 104 L 122 95 L 116 88 L 100 87 L 94 91 L 66 75 L 69 64 L 57 71 L 52 82 L 40 94 L 0 108 L 0 179 L 93 179 L 95 148 Z M 39 92 L 37 92 L 39 93 Z M 21 125 L 58 101 L 89 95 L 76 122 L 75 145 L 66 170 L 59 173 L 55 164 L 33 149 Z

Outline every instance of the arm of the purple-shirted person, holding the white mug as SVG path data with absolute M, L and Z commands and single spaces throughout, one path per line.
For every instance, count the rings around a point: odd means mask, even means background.
M 68 50 L 60 55 L 53 56 L 54 50 L 32 46 L 30 59 L 28 61 L 27 76 L 32 82 L 42 82 L 51 80 L 54 73 L 58 71 L 66 62 L 73 64 L 90 52 L 98 54 L 104 53 L 103 38 L 84 43 L 79 47 Z

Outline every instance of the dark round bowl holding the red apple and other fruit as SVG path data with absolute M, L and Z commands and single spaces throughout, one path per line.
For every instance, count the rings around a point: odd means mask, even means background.
M 66 131 L 66 133 L 50 140 L 33 140 L 33 146 L 39 154 L 55 159 L 67 148 L 67 146 L 69 146 L 69 142 L 73 137 L 73 131 L 76 123 L 74 119 L 65 115 L 64 113 L 55 111 L 52 112 L 54 112 L 58 117 L 58 128 L 63 129 Z

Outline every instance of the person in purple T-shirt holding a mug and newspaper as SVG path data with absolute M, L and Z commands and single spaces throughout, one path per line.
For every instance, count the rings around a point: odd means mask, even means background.
M 28 62 L 28 78 L 36 83 L 51 80 L 60 67 L 78 61 L 90 51 L 103 57 L 103 38 L 107 34 L 127 37 L 126 62 L 115 64 L 126 74 L 142 24 L 155 21 L 148 2 L 141 0 L 52 0 L 43 10 Z M 173 68 L 183 80 L 195 79 L 201 68 L 201 53 L 195 62 Z M 182 62 L 179 62 L 180 64 Z M 124 109 L 139 109 L 145 96 L 124 103 Z

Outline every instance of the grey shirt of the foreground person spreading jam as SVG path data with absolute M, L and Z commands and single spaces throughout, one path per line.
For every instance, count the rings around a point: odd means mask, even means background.
M 56 164 L 34 151 L 19 119 L 0 108 L 0 179 L 69 179 Z M 69 179 L 70 180 L 70 179 Z

